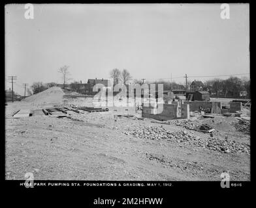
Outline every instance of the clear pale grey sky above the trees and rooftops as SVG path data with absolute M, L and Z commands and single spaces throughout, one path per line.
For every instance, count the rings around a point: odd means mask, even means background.
M 24 83 L 61 83 L 64 65 L 69 82 L 82 83 L 114 68 L 146 81 L 249 77 L 249 4 L 229 4 L 230 19 L 220 6 L 33 4 L 34 18 L 25 19 L 24 5 L 6 5 L 5 75 L 17 76 L 20 94 Z

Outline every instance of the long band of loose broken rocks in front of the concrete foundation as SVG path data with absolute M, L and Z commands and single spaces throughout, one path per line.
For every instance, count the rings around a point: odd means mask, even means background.
M 139 127 L 135 127 L 135 129 L 131 130 L 131 132 L 125 131 L 125 135 L 133 135 L 136 138 L 150 140 L 167 140 L 178 143 L 182 142 L 184 144 L 211 149 L 221 153 L 250 153 L 249 146 L 245 146 L 239 142 L 227 139 L 221 140 L 212 137 L 200 138 L 199 136 L 185 130 L 168 131 L 164 127 L 140 125 Z

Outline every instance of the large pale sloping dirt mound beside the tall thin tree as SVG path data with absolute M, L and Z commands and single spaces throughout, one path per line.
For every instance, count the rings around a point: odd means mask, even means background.
M 62 98 L 64 96 L 64 92 L 58 86 L 53 86 L 35 94 L 33 96 L 27 97 L 24 101 L 34 104 L 41 103 L 62 103 Z

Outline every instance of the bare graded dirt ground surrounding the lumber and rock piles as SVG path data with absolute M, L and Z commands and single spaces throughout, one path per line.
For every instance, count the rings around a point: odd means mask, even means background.
M 56 92 L 57 98 L 59 94 Z M 151 119 L 120 117 L 115 122 L 111 111 L 69 112 L 64 118 L 12 118 L 18 109 L 91 105 L 89 98 L 52 99 L 53 103 L 30 99 L 6 106 L 6 179 L 24 180 L 25 173 L 33 172 L 35 180 L 220 181 L 221 173 L 229 172 L 231 180 L 250 180 L 249 152 L 225 153 L 164 137 L 152 140 L 135 135 L 152 126 L 173 133 L 185 130 L 204 140 L 210 139 L 209 134 L 176 124 L 152 123 Z M 216 141 L 227 137 L 249 148 L 250 136 L 237 131 L 231 124 L 234 120 L 216 116 L 193 123 L 210 123 L 217 130 Z

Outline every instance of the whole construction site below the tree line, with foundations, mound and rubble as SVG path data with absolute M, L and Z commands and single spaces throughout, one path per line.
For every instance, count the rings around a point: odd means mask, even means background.
M 134 104 L 99 107 L 59 86 L 8 101 L 6 179 L 250 180 L 250 100 L 168 94 Z

